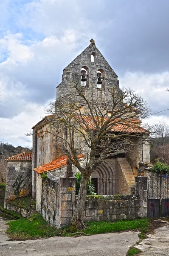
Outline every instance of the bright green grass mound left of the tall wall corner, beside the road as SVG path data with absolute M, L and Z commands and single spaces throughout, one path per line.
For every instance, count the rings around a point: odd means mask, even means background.
M 11 240 L 36 239 L 59 234 L 59 231 L 50 227 L 39 213 L 32 214 L 28 219 L 22 217 L 17 221 L 10 221 L 8 225 L 7 233 Z

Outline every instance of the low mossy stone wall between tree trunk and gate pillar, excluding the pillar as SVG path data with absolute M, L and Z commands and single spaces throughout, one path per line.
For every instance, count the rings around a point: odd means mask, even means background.
M 136 195 L 87 196 L 84 221 L 115 221 L 142 217 Z

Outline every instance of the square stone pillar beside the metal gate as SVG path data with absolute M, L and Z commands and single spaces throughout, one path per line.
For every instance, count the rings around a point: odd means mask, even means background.
M 138 217 L 147 216 L 147 178 L 135 177 L 135 195 L 138 196 Z

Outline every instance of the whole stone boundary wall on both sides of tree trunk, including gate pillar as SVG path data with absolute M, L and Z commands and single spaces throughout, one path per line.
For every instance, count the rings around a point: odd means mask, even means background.
M 75 193 L 75 178 L 51 180 L 50 176 L 46 177 L 42 181 L 41 198 L 37 198 L 38 212 L 51 226 L 60 228 L 69 225 L 77 201 Z M 146 216 L 146 177 L 135 177 L 135 195 L 87 196 L 85 203 L 84 221 L 114 221 Z

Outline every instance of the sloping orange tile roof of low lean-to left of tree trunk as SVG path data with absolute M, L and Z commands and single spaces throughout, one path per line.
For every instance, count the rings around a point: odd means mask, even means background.
M 82 157 L 83 157 L 83 154 L 78 155 L 78 158 L 82 158 Z M 49 172 L 49 171 L 55 170 L 57 168 L 65 166 L 67 163 L 67 159 L 68 159 L 67 156 L 59 157 L 56 160 L 52 161 L 51 163 L 46 163 L 42 166 L 35 168 L 34 171 L 40 174 L 43 172 Z

